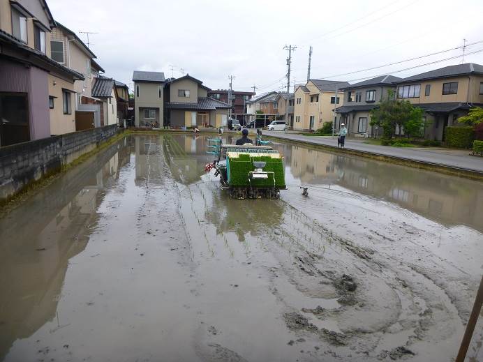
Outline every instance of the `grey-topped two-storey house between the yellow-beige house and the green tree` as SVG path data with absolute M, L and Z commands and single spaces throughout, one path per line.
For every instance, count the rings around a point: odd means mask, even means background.
M 396 92 L 395 82 L 401 78 L 394 75 L 381 75 L 370 80 L 351 84 L 344 89 L 343 105 L 336 107 L 339 114 L 335 128 L 339 130 L 341 123 L 345 123 L 348 135 L 352 137 L 374 137 L 382 134 L 382 129 L 370 126 L 369 112 L 378 107 L 381 100 Z

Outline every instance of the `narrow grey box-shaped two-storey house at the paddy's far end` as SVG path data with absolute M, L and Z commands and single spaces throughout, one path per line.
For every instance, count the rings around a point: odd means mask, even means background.
M 164 73 L 135 70 L 133 82 L 135 127 L 151 122 L 163 124 Z

